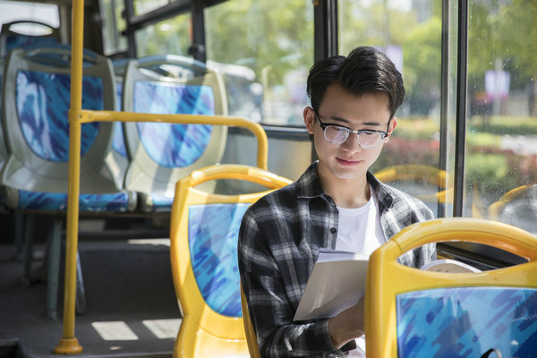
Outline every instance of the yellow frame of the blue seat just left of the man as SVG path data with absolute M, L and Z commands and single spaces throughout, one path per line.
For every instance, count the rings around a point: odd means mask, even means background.
M 201 192 L 194 186 L 217 179 L 259 183 L 269 190 L 241 195 Z M 170 223 L 170 257 L 175 293 L 183 322 L 174 357 L 249 356 L 243 318 L 226 317 L 204 301 L 194 277 L 188 240 L 189 206 L 211 203 L 253 203 L 290 180 L 252 166 L 209 166 L 192 172 L 177 183 Z M 239 290 L 239 287 L 237 287 Z

